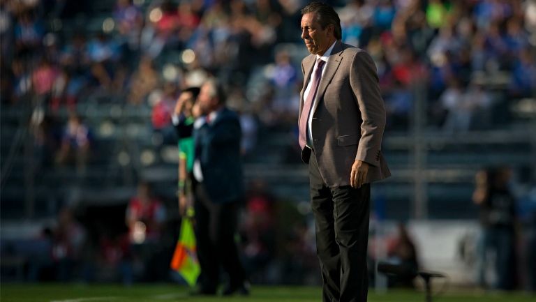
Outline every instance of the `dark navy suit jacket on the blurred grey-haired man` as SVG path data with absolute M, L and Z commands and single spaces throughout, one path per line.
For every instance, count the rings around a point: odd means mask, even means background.
M 194 129 L 193 137 L 195 156 L 200 160 L 204 188 L 211 201 L 241 201 L 244 196 L 244 177 L 238 115 L 223 108 L 214 121 Z

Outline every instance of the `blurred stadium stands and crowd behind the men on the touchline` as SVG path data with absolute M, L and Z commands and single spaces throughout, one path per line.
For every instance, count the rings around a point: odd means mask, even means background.
M 319 285 L 297 144 L 307 2 L 0 0 L 2 282 L 181 282 L 170 115 L 214 75 L 244 132 L 251 281 Z M 536 1 L 326 2 L 387 108 L 371 286 L 413 286 L 377 275 L 387 260 L 536 291 Z M 147 228 L 127 223 L 138 199 Z

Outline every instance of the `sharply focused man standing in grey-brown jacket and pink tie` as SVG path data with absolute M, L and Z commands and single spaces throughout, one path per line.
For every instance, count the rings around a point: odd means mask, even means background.
M 385 106 L 371 56 L 341 42 L 334 9 L 301 10 L 299 144 L 309 165 L 323 301 L 366 301 L 370 183 L 390 175 L 380 151 Z

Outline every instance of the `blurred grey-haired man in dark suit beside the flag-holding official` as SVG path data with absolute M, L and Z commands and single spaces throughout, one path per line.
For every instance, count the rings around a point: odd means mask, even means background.
M 192 169 L 195 236 L 201 266 L 198 294 L 216 294 L 220 267 L 229 276 L 223 295 L 248 294 L 234 243 L 238 208 L 244 198 L 239 117 L 225 107 L 223 89 L 215 80 L 201 86 L 193 112 L 200 114 L 193 126 Z

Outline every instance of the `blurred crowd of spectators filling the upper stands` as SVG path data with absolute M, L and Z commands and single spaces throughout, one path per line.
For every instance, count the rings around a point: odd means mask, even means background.
M 90 1 L 3 0 L 1 100 L 31 95 L 54 114 L 95 101 L 88 96 L 115 95 L 151 105 L 162 129 L 179 91 L 216 75 L 237 110 L 267 126 L 293 126 L 302 2 L 117 0 L 91 29 Z M 452 132 L 491 128 L 493 110 L 534 96 L 532 0 L 328 2 L 341 15 L 343 41 L 375 59 L 388 130 L 408 127 L 415 98 L 424 98 L 432 126 Z

